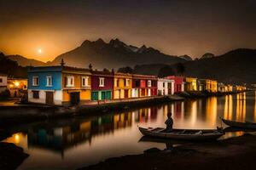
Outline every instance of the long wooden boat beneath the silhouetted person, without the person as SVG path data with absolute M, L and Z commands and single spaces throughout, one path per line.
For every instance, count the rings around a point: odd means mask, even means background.
M 145 136 L 162 138 L 162 139 L 178 139 L 178 140 L 212 140 L 218 139 L 224 135 L 223 130 L 211 129 L 173 129 L 172 132 L 166 133 L 165 128 L 161 127 L 138 127 L 141 133 Z

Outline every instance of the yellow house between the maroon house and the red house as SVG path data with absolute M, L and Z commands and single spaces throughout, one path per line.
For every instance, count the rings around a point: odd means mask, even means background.
M 128 73 L 114 73 L 113 99 L 131 98 L 132 75 Z

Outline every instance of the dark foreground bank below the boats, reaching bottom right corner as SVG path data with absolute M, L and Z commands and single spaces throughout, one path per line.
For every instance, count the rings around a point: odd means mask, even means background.
M 110 158 L 81 169 L 255 169 L 255 157 L 256 136 L 245 134 L 214 143 L 184 144 L 170 150 Z

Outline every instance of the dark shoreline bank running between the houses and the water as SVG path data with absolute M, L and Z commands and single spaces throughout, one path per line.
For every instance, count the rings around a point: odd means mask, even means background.
M 242 93 L 242 92 L 239 92 Z M 235 94 L 239 94 L 235 93 Z M 228 93 L 234 94 L 234 93 Z M 56 105 L 1 105 L 0 125 L 9 127 L 11 125 L 38 122 L 49 119 L 72 118 L 75 116 L 101 115 L 109 111 L 129 111 L 134 108 L 141 108 L 147 105 L 158 105 L 184 99 L 198 99 L 212 96 L 224 96 L 227 93 L 206 93 L 189 92 L 172 96 L 157 96 L 145 99 L 123 100 L 122 102 L 112 101 L 100 105 L 78 105 L 78 106 L 56 106 Z

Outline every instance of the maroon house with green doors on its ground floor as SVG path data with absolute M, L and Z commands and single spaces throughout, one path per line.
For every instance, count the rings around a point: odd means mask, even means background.
M 113 71 L 91 71 L 91 100 L 113 98 Z

